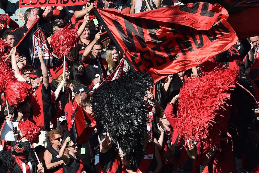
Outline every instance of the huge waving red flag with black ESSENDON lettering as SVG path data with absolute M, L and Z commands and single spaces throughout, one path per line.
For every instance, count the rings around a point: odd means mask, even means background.
M 228 50 L 237 41 L 220 5 L 193 3 L 126 15 L 97 9 L 97 17 L 135 70 L 154 82 L 188 70 Z

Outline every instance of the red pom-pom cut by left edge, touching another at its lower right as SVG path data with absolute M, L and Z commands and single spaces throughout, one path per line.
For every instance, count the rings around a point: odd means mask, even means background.
M 0 63 L 0 92 L 5 91 L 5 86 L 16 79 L 13 70 L 1 61 Z

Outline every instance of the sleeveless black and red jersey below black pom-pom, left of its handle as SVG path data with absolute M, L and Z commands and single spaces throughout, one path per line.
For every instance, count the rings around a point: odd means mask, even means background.
M 111 146 L 106 153 L 99 153 L 99 173 L 121 173 L 122 163 L 117 148 Z

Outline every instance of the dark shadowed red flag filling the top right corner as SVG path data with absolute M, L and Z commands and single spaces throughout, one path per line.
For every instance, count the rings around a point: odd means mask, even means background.
M 240 39 L 259 35 L 259 0 L 181 0 L 185 3 L 209 2 L 224 7 L 229 17 L 227 22 Z

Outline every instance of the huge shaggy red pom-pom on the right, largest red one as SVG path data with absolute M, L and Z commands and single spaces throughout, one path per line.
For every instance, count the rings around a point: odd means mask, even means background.
M 230 90 L 235 88 L 237 69 L 221 63 L 201 77 L 191 77 L 180 90 L 178 132 L 187 139 L 219 147 L 230 118 Z M 186 144 L 185 144 L 186 146 Z

